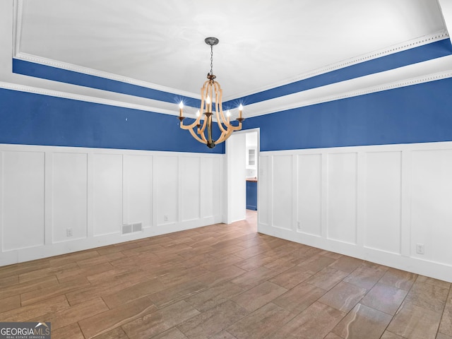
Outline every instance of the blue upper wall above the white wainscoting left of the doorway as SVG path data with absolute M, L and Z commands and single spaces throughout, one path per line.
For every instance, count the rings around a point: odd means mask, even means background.
M 210 150 L 173 115 L 0 89 L 0 143 L 174 152 Z

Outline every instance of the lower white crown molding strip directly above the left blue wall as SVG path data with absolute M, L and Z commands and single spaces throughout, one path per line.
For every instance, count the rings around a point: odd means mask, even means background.
M 26 93 L 32 93 L 32 94 L 48 95 L 51 97 L 62 97 L 64 99 L 78 100 L 78 101 L 84 101 L 84 102 L 93 102 L 93 103 L 102 104 L 102 105 L 117 106 L 117 107 L 124 107 L 124 108 L 130 108 L 130 109 L 138 109 L 138 110 L 147 111 L 147 112 L 170 114 L 170 115 L 179 114 L 179 111 L 177 111 L 176 109 L 174 109 L 174 111 L 172 111 L 172 110 L 163 109 L 160 107 L 138 105 L 138 104 L 133 104 L 130 102 L 103 99 L 101 97 L 90 97 L 88 95 L 66 93 L 66 92 L 60 92 L 57 90 L 47 90 L 47 89 L 43 89 L 43 88 L 35 88 L 32 86 L 20 85 L 20 84 L 16 84 L 16 83 L 5 83 L 5 82 L 0 81 L 0 88 L 5 89 L 5 90 L 17 90 L 20 92 L 26 92 Z

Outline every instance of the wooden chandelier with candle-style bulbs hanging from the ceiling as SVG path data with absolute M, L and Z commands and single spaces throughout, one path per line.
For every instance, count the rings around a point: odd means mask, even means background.
M 188 129 L 197 141 L 205 143 L 208 148 L 214 148 L 218 143 L 222 143 L 230 137 L 233 131 L 239 131 L 242 129 L 242 111 L 243 106 L 239 106 L 239 117 L 237 121 L 239 124 L 233 126 L 230 122 L 230 111 L 227 110 L 226 114 L 223 113 L 222 108 L 222 89 L 220 84 L 215 81 L 216 76 L 213 75 L 213 46 L 218 44 L 219 40 L 216 37 L 206 37 L 204 40 L 206 44 L 210 46 L 210 73 L 207 74 L 208 80 L 201 88 L 201 107 L 196 112 L 196 119 L 193 124 L 184 125 L 184 103 L 179 104 L 179 120 L 181 121 L 181 129 Z M 213 140 L 212 125 L 213 114 L 215 114 L 218 128 L 220 129 L 220 136 L 217 140 Z M 203 122 L 201 122 L 203 119 Z M 196 132 L 194 131 L 196 129 Z M 206 136 L 207 132 L 207 136 Z

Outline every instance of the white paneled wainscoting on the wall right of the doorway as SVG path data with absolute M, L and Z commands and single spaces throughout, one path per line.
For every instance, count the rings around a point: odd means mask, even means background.
M 259 232 L 452 282 L 451 142 L 259 160 Z

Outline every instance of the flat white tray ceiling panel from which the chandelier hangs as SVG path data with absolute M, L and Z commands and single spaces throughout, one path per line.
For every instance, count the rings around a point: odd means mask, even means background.
M 16 52 L 230 100 L 445 32 L 437 0 L 18 0 Z

